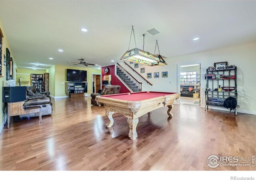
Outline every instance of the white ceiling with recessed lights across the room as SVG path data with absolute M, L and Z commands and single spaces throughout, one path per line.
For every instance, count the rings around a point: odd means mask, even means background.
M 141 49 L 143 33 L 160 31 L 147 33 L 144 50 L 154 53 L 157 39 L 166 57 L 256 41 L 256 1 L 1 0 L 0 20 L 20 68 L 38 63 L 46 69 L 80 58 L 101 66 L 119 62 L 132 25 Z

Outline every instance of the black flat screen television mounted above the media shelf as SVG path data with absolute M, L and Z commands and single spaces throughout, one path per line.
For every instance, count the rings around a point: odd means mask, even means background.
M 67 81 L 72 81 L 72 82 L 87 81 L 87 71 L 67 69 Z

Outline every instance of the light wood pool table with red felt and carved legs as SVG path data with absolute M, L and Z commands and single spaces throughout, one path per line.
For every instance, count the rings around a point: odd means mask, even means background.
M 112 115 L 114 112 L 120 112 L 128 118 L 129 137 L 135 140 L 138 137 L 136 126 L 140 116 L 167 106 L 167 114 L 172 117 L 173 102 L 179 97 L 180 93 L 144 91 L 96 96 L 96 101 L 98 105 L 104 104 L 105 106 L 106 116 L 109 120 L 106 126 L 110 128 L 114 123 Z

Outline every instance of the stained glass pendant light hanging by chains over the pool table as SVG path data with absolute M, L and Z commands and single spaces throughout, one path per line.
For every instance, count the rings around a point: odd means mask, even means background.
M 131 42 L 131 38 L 132 38 L 132 32 L 133 32 L 134 41 L 135 41 L 135 48 L 129 50 L 130 49 L 130 42 Z M 147 66 L 162 66 L 162 65 L 167 64 L 164 61 L 164 59 L 162 58 L 162 56 L 160 56 L 157 40 L 156 40 L 156 45 L 158 47 L 159 55 L 154 55 L 154 54 L 151 54 L 149 52 L 146 52 L 144 50 L 141 50 L 141 49 L 137 48 L 133 26 L 132 26 L 132 32 L 131 32 L 131 36 L 130 36 L 128 51 L 126 51 L 124 53 L 124 55 L 122 56 L 122 58 L 120 58 L 120 60 L 130 61 L 130 62 L 139 63 L 139 64 L 144 64 L 144 65 L 147 65 Z M 156 47 L 155 47 L 155 52 L 156 52 Z

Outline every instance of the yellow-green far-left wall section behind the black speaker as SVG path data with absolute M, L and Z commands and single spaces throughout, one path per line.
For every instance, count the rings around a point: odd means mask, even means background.
M 16 72 L 16 85 L 18 86 L 19 78 L 22 77 L 22 81 L 28 81 L 28 82 L 21 82 L 21 86 L 30 86 L 30 74 L 44 74 L 45 70 L 33 70 L 33 69 L 22 69 L 18 68 L 18 71 Z M 23 79 L 24 78 L 24 79 Z

